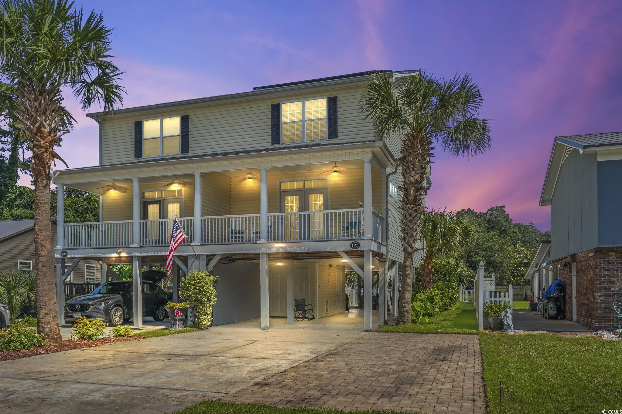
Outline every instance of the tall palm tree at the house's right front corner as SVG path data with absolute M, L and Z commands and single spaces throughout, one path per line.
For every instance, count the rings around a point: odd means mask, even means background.
M 476 155 L 490 148 L 488 120 L 480 119 L 480 88 L 468 75 L 436 79 L 424 72 L 391 78 L 375 74 L 366 84 L 361 109 L 378 137 L 401 140 L 401 203 L 404 271 L 397 323 L 410 322 L 412 254 L 420 250 L 419 226 L 425 211 L 426 174 L 434 143 L 450 155 Z

